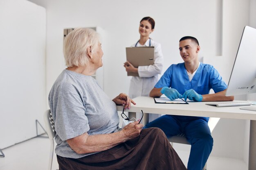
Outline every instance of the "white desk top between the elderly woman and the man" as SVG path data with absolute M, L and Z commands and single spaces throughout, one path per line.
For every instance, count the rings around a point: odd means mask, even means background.
M 125 111 L 141 112 L 143 110 L 144 113 L 256 120 L 256 111 L 240 109 L 245 106 L 216 107 L 205 105 L 207 102 L 189 102 L 189 105 L 159 104 L 154 102 L 154 98 L 143 96 L 133 100 L 136 102 L 136 105 L 131 105 L 130 109 Z M 123 111 L 123 107 L 117 106 L 117 110 Z

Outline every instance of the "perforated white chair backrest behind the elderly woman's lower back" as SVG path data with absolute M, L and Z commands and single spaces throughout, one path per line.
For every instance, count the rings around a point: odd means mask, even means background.
M 52 113 L 50 109 L 45 111 L 44 120 L 45 120 L 46 132 L 49 136 L 49 139 L 53 139 L 55 137 L 56 131 L 55 131 L 54 121 L 53 121 Z

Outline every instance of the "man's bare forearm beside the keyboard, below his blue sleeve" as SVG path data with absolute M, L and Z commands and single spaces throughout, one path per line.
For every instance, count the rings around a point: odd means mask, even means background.
M 226 90 L 223 90 L 214 94 L 204 94 L 202 102 L 212 102 L 212 101 L 233 101 L 234 96 L 225 96 Z

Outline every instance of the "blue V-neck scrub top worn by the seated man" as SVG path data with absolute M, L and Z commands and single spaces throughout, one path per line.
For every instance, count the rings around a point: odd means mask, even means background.
M 213 89 L 215 93 L 227 89 L 227 84 L 222 80 L 218 71 L 212 65 L 204 63 L 200 63 L 191 81 L 189 81 L 184 63 L 172 64 L 155 85 L 156 88 L 165 86 L 176 89 L 180 94 L 189 89 L 194 89 L 201 95 L 209 94 L 210 89 Z M 185 116 L 181 117 L 185 118 Z M 209 120 L 209 118 L 204 117 L 193 118 L 203 118 L 207 122 Z

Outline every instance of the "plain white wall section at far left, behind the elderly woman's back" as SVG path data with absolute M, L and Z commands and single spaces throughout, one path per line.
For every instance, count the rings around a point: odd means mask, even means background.
M 35 137 L 35 120 L 43 123 L 45 38 L 43 7 L 0 1 L 0 148 Z

